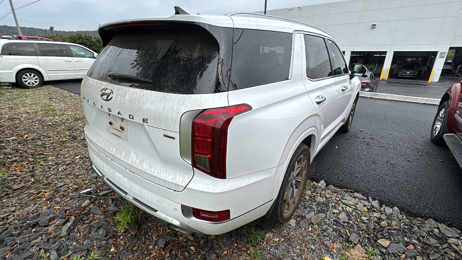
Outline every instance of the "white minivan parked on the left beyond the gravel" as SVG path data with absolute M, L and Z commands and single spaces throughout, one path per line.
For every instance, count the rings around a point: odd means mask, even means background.
M 0 82 L 24 88 L 46 80 L 81 79 L 97 53 L 74 43 L 0 40 Z

